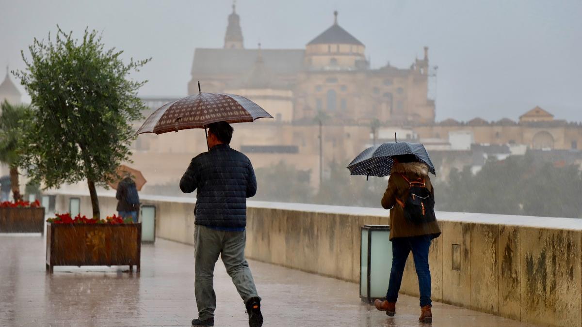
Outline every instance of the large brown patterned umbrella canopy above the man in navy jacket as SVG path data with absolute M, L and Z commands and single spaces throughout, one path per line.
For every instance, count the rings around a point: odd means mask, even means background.
M 161 106 L 145 120 L 136 134 L 203 129 L 216 122 L 254 122 L 259 118 L 273 116 L 240 95 L 198 93 Z

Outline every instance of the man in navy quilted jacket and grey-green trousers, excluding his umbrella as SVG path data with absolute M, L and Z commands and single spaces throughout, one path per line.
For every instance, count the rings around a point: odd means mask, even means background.
M 230 148 L 233 128 L 226 122 L 208 129 L 210 150 L 192 159 L 180 180 L 184 193 L 198 190 L 194 226 L 194 293 L 198 318 L 192 326 L 214 326 L 216 295 L 212 287 L 218 256 L 232 278 L 249 314 L 249 326 L 262 325 L 261 298 L 244 258 L 246 243 L 246 200 L 257 191 L 253 165 L 246 155 Z

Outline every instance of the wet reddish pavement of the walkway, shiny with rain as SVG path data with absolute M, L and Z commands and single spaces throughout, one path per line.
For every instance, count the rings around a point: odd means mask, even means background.
M 141 273 L 127 266 L 62 267 L 45 273 L 39 234 L 0 234 L 0 326 L 190 326 L 194 248 L 158 239 L 141 248 Z M 422 326 L 418 299 L 400 296 L 396 316 L 360 301 L 359 286 L 250 261 L 264 326 Z M 317 262 L 314 262 L 317 264 Z M 248 326 L 244 304 L 222 263 L 214 280 L 216 326 Z M 526 326 L 433 303 L 432 326 Z

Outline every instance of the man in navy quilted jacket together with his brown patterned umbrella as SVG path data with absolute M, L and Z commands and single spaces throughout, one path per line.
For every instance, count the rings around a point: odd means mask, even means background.
M 230 148 L 230 123 L 273 118 L 253 101 L 236 94 L 203 93 L 169 102 L 152 113 L 137 131 L 162 134 L 209 128 L 208 152 L 193 158 L 180 180 L 184 193 L 197 190 L 194 228 L 198 318 L 192 326 L 214 326 L 216 296 L 212 287 L 218 256 L 243 298 L 251 327 L 262 326 L 261 298 L 244 258 L 246 198 L 254 196 L 257 180 L 246 155 Z

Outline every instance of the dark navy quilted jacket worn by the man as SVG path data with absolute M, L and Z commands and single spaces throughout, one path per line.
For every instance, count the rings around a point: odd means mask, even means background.
M 184 193 L 198 190 L 196 225 L 244 228 L 247 198 L 257 192 L 257 180 L 246 155 L 219 144 L 192 159 L 180 189 Z

